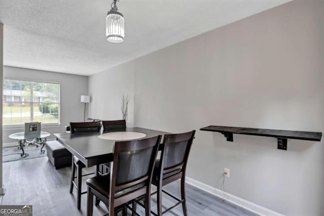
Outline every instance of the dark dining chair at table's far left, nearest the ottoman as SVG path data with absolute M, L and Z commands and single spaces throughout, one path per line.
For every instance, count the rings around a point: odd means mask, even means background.
M 100 132 L 100 128 L 101 128 L 100 121 L 70 122 L 71 134 L 98 133 L 98 132 Z M 82 175 L 82 168 L 84 168 L 84 167 L 86 167 L 86 165 L 73 155 L 70 193 L 73 192 L 73 187 L 75 187 L 76 188 L 76 206 L 78 209 L 81 207 L 81 195 L 87 193 L 87 191 L 81 192 L 82 177 L 94 174 L 94 172 L 92 172 L 90 174 Z M 75 177 L 75 169 L 76 169 L 76 177 Z M 76 182 L 74 181 L 75 178 L 76 178 Z

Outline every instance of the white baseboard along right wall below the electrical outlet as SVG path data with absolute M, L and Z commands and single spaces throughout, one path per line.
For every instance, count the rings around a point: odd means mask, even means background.
M 217 188 L 214 188 L 212 186 L 209 186 L 209 185 L 206 185 L 204 183 L 201 183 L 199 181 L 196 181 L 194 179 L 191 179 L 189 177 L 186 177 L 186 183 L 196 187 L 196 188 L 199 188 L 201 190 L 204 190 L 208 193 L 211 193 L 215 196 L 218 196 L 218 197 L 223 197 L 223 191 L 217 189 Z M 227 192 L 226 192 L 227 193 Z M 242 208 L 245 208 L 249 211 L 252 211 L 256 214 L 259 214 L 259 215 L 267 215 L 267 216 L 284 216 L 284 214 L 280 214 L 278 212 L 275 212 L 273 210 L 270 210 L 268 208 L 265 208 L 265 207 L 262 207 L 260 205 L 257 205 L 255 203 L 252 203 L 248 200 L 245 200 L 245 199 L 241 199 L 237 196 L 234 196 L 234 195 L 231 195 L 229 193 L 227 193 L 227 195 L 230 197 L 229 199 L 227 199 L 226 201 L 228 202 L 231 202 L 239 207 L 242 207 Z

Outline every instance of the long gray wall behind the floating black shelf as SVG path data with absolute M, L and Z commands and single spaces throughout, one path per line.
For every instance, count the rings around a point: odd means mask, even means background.
M 108 90 L 125 88 L 112 80 L 132 85 L 127 77 L 135 74 L 136 126 L 197 130 L 188 177 L 220 189 L 228 167 L 230 194 L 282 214 L 323 215 L 323 141 L 290 140 L 283 151 L 274 138 L 234 135 L 226 142 L 198 131 L 225 125 L 324 132 L 323 9 L 324 1 L 295 0 L 91 76 L 89 91 L 104 100 L 113 95 Z M 111 86 L 100 92 L 100 80 Z

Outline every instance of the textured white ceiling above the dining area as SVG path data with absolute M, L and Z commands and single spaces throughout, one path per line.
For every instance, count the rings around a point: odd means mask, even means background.
M 291 0 L 120 0 L 125 40 L 106 40 L 112 0 L 0 0 L 4 65 L 91 75 Z

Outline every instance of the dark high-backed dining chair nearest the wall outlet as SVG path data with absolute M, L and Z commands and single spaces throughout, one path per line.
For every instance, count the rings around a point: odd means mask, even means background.
M 195 131 L 183 134 L 166 134 L 164 136 L 163 145 L 161 145 L 160 158 L 156 159 L 152 184 L 156 186 L 156 191 L 151 195 L 157 194 L 157 214 L 151 211 L 154 215 L 162 215 L 174 207 L 182 204 L 183 215 L 187 215 L 186 195 L 185 195 L 185 178 L 186 167 L 189 157 L 190 148 L 194 139 Z M 163 190 L 163 186 L 180 179 L 181 199 L 178 199 L 169 192 Z M 178 202 L 172 207 L 162 212 L 162 192 L 169 195 Z M 142 198 L 140 198 L 141 200 Z M 142 203 L 139 201 L 133 202 L 133 209 L 136 210 L 136 204 Z

